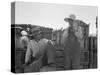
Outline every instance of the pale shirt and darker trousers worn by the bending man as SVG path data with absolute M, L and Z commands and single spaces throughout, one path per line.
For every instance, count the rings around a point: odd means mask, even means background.
M 35 57 L 35 60 L 28 66 L 25 72 L 37 72 L 40 71 L 46 63 L 44 58 L 47 58 L 47 63 L 55 63 L 55 50 L 53 45 L 47 39 L 41 39 L 39 42 L 31 40 L 28 44 L 26 51 L 25 62 L 30 61 L 30 58 Z M 44 64 L 45 63 L 45 64 Z

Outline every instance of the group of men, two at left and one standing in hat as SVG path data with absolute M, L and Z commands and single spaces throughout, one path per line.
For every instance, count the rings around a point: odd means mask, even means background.
M 61 43 L 64 47 L 64 69 L 80 68 L 80 39 L 82 30 L 75 15 L 70 15 L 64 21 L 69 23 L 69 27 L 62 34 Z M 24 72 L 55 71 L 56 49 L 50 40 L 41 37 L 41 30 L 37 27 L 32 30 L 31 40 L 27 37 L 27 32 L 22 31 L 21 43 L 26 49 Z

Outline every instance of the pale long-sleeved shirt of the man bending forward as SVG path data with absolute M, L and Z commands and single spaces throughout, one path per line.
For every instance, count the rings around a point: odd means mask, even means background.
M 47 39 L 41 39 L 39 42 L 36 42 L 35 40 L 30 40 L 26 51 L 25 62 L 28 62 L 30 60 L 31 55 L 33 57 L 43 55 L 47 46 L 47 42 Z

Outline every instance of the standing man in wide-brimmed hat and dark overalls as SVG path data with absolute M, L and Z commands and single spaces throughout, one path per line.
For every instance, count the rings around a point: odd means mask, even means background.
M 79 21 L 75 19 L 75 15 L 65 18 L 64 21 L 69 23 L 69 28 L 65 29 L 62 35 L 62 44 L 64 46 L 64 66 L 66 70 L 80 68 L 80 43 L 82 31 L 79 31 Z

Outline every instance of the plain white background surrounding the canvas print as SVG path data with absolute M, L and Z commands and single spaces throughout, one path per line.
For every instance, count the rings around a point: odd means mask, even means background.
M 10 61 L 11 61 L 11 2 L 14 0 L 2 0 L 0 1 L 0 75 L 14 75 L 10 72 Z M 15 0 L 24 2 L 42 2 L 42 3 L 57 3 L 57 4 L 74 4 L 74 5 L 92 5 L 98 6 L 98 15 L 100 16 L 100 1 L 99 0 Z M 98 18 L 99 19 L 99 18 Z M 100 19 L 99 19 L 100 20 Z M 98 28 L 99 28 L 98 20 Z M 98 29 L 99 34 L 99 29 Z M 99 45 L 98 35 L 98 45 Z M 100 51 L 98 48 L 98 63 L 100 62 Z M 43 72 L 43 73 L 26 73 L 25 75 L 97 75 L 100 72 L 100 65 L 98 64 L 98 69 L 88 69 L 88 70 L 74 70 L 74 71 L 56 71 L 56 72 Z M 23 74 L 20 74 L 23 75 Z

